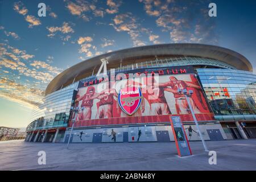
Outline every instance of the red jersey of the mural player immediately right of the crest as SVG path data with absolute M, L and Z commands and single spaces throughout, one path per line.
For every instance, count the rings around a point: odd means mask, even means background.
M 152 104 L 152 103 L 167 103 L 166 97 L 164 97 L 164 87 L 163 86 L 159 86 L 156 88 L 154 88 L 152 86 L 148 86 L 147 94 L 148 94 L 148 102 L 150 102 L 150 104 Z

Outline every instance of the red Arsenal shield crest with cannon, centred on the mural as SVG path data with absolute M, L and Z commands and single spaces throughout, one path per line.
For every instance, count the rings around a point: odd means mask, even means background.
M 125 87 L 118 94 L 118 104 L 128 115 L 133 115 L 141 105 L 141 89 L 136 87 Z

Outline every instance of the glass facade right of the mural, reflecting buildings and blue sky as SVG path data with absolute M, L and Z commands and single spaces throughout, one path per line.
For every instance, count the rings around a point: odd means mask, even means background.
M 197 69 L 216 115 L 256 114 L 256 75 L 232 69 Z

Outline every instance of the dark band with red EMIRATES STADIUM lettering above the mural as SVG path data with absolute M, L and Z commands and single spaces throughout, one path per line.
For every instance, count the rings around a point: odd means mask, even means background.
M 127 71 L 126 73 L 110 73 L 105 77 L 101 78 L 91 78 L 90 80 L 82 81 L 82 86 L 99 84 L 103 81 L 118 81 L 128 78 L 137 78 L 137 77 L 147 77 L 147 76 L 163 76 L 163 75 L 179 75 L 179 74 L 187 74 L 187 73 L 195 73 L 191 66 L 184 67 L 172 67 L 172 68 L 163 68 L 163 69 L 135 69 L 132 71 Z

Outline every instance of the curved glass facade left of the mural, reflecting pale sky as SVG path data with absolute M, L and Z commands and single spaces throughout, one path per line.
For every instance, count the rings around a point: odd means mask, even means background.
M 67 127 L 74 91 L 79 82 L 48 94 L 32 111 L 27 131 Z

